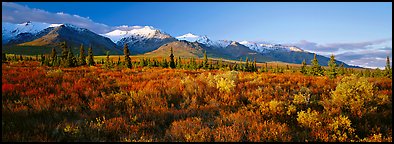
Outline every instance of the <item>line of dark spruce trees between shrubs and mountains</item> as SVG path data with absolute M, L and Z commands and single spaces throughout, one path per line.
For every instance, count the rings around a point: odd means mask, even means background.
M 273 72 L 273 73 L 283 73 L 284 70 L 289 70 L 291 72 L 296 72 L 296 69 L 290 68 L 286 65 L 286 68 L 279 67 L 272 68 L 272 66 L 268 67 L 267 63 L 265 66 L 257 67 L 256 59 L 252 61 L 246 57 L 245 62 L 243 62 L 242 58 L 240 58 L 239 63 L 229 63 L 223 62 L 222 59 L 216 60 L 213 62 L 212 59 L 208 59 L 206 51 L 204 52 L 203 60 L 197 60 L 194 57 L 191 58 L 175 58 L 173 54 L 173 49 L 171 48 L 171 54 L 169 55 L 169 62 L 167 58 L 162 58 L 159 61 L 157 58 L 140 58 L 139 61 L 132 62 L 130 58 L 130 50 L 128 48 L 128 44 L 126 43 L 123 47 L 124 60 L 121 61 L 120 56 L 118 57 L 117 62 L 112 61 L 109 58 L 109 52 L 107 51 L 106 60 L 103 59 L 101 61 L 95 62 L 93 56 L 93 49 L 90 45 L 88 48 L 87 57 L 85 55 L 85 49 L 83 44 L 80 46 L 79 55 L 74 56 L 71 51 L 71 47 L 67 46 L 66 42 L 62 42 L 60 45 L 61 55 L 58 56 L 56 49 L 53 48 L 51 54 L 43 55 L 41 54 L 40 58 L 36 55 L 35 60 L 40 61 L 41 65 L 46 66 L 59 66 L 59 67 L 77 67 L 77 66 L 94 66 L 96 64 L 102 64 L 103 68 L 114 68 L 115 66 L 119 68 L 133 68 L 133 67 L 162 67 L 162 68 L 177 68 L 177 69 L 188 69 L 188 70 L 197 70 L 197 69 L 205 69 L 205 70 L 235 70 L 235 71 L 244 71 L 244 72 Z M 22 55 L 6 57 L 6 54 L 3 53 L 2 61 L 19 61 L 19 60 L 34 60 L 32 57 L 23 58 Z M 350 73 L 355 73 L 359 76 L 364 77 L 388 77 L 391 78 L 392 70 L 390 67 L 390 59 L 387 56 L 386 67 L 384 70 L 380 70 L 376 68 L 371 71 L 366 69 L 364 71 L 355 72 L 353 69 L 344 68 L 344 64 L 340 64 L 339 66 L 335 62 L 335 56 L 331 55 L 330 60 L 328 62 L 328 68 L 323 68 L 319 65 L 319 62 L 316 58 L 316 54 L 311 60 L 311 65 L 307 65 L 305 59 L 302 61 L 301 72 L 304 75 L 310 76 L 328 76 L 329 78 L 335 78 L 338 75 L 345 75 Z

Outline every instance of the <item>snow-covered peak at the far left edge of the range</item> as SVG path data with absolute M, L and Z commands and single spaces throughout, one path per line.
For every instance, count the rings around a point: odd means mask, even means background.
M 58 27 L 62 24 L 48 24 L 42 22 L 24 22 L 21 24 L 13 24 L 9 22 L 2 22 L 2 42 L 7 43 L 19 34 L 29 33 L 36 34 L 49 27 Z

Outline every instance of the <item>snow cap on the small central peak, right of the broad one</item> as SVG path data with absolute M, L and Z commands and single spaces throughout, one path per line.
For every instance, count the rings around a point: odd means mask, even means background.
M 229 41 L 229 40 L 211 40 L 206 35 L 198 36 L 198 35 L 194 35 L 194 34 L 191 34 L 191 33 L 187 33 L 185 35 L 177 36 L 176 38 L 178 40 L 185 40 L 185 41 L 188 41 L 188 42 L 198 42 L 198 43 L 210 46 L 210 47 L 219 47 L 219 48 L 225 48 L 225 47 L 227 47 L 228 45 L 230 45 L 233 42 L 233 41 Z

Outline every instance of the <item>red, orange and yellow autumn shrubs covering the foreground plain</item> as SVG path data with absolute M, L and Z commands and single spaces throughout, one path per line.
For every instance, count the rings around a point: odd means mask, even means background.
M 385 76 L 136 63 L 3 63 L 3 141 L 392 142 Z

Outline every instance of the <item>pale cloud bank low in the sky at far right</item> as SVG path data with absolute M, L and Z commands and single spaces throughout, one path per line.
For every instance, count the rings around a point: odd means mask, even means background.
M 327 57 L 334 54 L 336 59 L 347 64 L 368 68 L 384 68 L 386 57 L 392 55 L 391 38 L 366 42 L 329 44 L 318 44 L 302 40 L 291 45 Z

